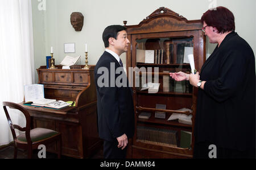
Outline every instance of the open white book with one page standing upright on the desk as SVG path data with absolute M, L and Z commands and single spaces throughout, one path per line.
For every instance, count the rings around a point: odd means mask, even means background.
M 44 98 L 43 84 L 32 84 L 24 85 L 24 101 L 25 103 L 33 102 L 44 105 L 46 103 L 56 101 L 56 99 Z

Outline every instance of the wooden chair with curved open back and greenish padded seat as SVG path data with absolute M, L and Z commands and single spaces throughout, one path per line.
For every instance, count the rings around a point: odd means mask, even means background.
M 11 109 L 18 109 L 26 117 L 26 127 L 20 127 L 19 125 L 13 125 L 11 122 L 9 113 L 6 106 Z M 17 157 L 17 149 L 21 148 L 28 151 L 28 158 L 32 157 L 32 150 L 38 149 L 40 144 L 47 145 L 57 141 L 57 154 L 58 158 L 61 156 L 61 134 L 60 132 L 53 131 L 47 128 L 34 128 L 31 130 L 31 118 L 30 114 L 24 107 L 13 103 L 13 102 L 3 102 L 3 109 L 5 110 L 6 118 L 11 128 L 11 133 L 13 134 L 14 140 L 14 158 Z M 24 131 L 22 134 L 16 136 L 15 128 Z

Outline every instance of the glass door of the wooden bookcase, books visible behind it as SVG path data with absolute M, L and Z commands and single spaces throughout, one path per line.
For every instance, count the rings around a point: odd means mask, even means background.
M 141 71 L 135 77 L 136 142 L 190 150 L 193 88 L 189 81 L 172 80 L 170 72 L 191 72 L 193 37 L 144 38 L 136 43 L 136 67 Z

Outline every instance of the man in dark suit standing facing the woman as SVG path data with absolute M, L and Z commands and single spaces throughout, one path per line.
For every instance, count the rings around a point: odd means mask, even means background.
M 125 30 L 119 25 L 105 28 L 102 39 L 106 49 L 94 70 L 98 132 L 104 139 L 104 158 L 111 159 L 126 157 L 128 139 L 134 135 L 133 96 L 119 58 L 130 45 Z

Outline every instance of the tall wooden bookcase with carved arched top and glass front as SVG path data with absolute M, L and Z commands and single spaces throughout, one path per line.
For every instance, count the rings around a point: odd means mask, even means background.
M 189 82 L 174 82 L 168 72 L 191 72 L 190 65 L 183 63 L 185 47 L 192 49 L 195 68 L 200 72 L 205 61 L 205 36 L 200 20 L 187 20 L 183 16 L 160 7 L 138 25 L 127 26 L 131 47 L 126 54 L 127 76 L 133 77 L 133 99 L 135 108 L 135 135 L 130 141 L 130 158 L 189 158 L 193 155 L 194 122 L 196 114 L 197 88 Z M 137 51 L 154 50 L 154 62 L 143 63 L 138 60 Z M 160 59 L 159 59 L 160 57 Z M 141 58 L 141 57 L 140 57 Z M 137 62 L 137 61 L 140 61 Z M 129 67 L 138 67 L 141 73 L 128 72 Z M 158 74 L 160 83 L 158 93 L 141 91 L 142 68 L 152 73 L 152 80 Z M 158 71 L 158 72 L 156 72 Z M 129 74 L 133 74 L 133 76 Z M 139 86 L 135 86 L 139 75 Z M 170 77 L 170 78 L 169 78 Z M 156 80 L 155 80 L 156 81 Z M 147 79 L 147 82 L 150 80 Z M 163 83 L 164 82 L 164 83 Z M 156 104 L 166 109 L 156 109 Z M 167 121 L 173 113 L 189 115 L 188 111 L 175 111 L 182 108 L 192 110 L 192 125 Z M 155 112 L 162 111 L 165 118 L 156 118 Z M 148 119 L 139 118 L 142 112 L 151 113 Z M 185 131 L 185 137 L 184 137 Z M 189 147 L 181 146 L 191 134 Z M 188 139 L 186 139 L 188 140 Z

